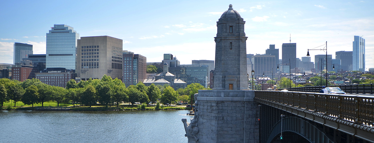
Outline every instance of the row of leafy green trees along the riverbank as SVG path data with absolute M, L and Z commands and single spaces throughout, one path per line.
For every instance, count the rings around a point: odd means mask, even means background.
M 97 103 L 101 105 L 118 105 L 120 103 L 152 103 L 160 101 L 171 105 L 176 101 L 194 103 L 193 94 L 198 90 L 206 90 L 202 85 L 194 83 L 177 91 L 169 85 L 145 86 L 142 82 L 128 87 L 118 78 L 112 79 L 104 75 L 101 79 L 89 79 L 76 83 L 74 79 L 67 82 L 66 88 L 56 87 L 42 83 L 39 79 L 27 79 L 24 82 L 0 79 L 0 107 L 3 103 L 21 101 L 27 105 L 42 104 L 55 101 L 57 106 L 61 103 L 73 103 L 92 106 Z M 192 98 L 191 98 L 192 97 Z

